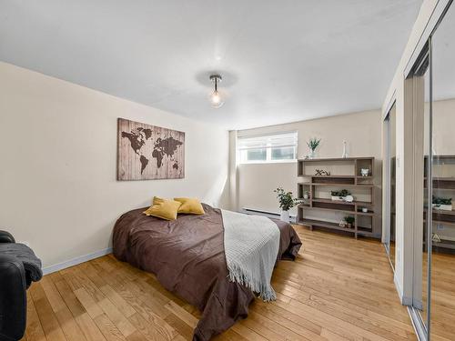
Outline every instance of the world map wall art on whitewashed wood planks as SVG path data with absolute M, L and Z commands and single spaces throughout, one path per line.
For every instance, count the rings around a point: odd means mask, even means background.
M 185 177 L 185 133 L 118 118 L 117 180 Z

